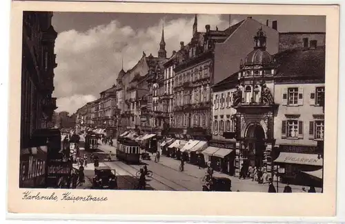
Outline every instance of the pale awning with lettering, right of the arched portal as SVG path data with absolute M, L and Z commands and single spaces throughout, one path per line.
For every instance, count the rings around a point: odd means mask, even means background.
M 322 158 L 318 159 L 317 154 L 304 153 L 280 153 L 279 157 L 275 159 L 276 163 L 284 164 L 302 164 L 310 166 L 322 166 Z

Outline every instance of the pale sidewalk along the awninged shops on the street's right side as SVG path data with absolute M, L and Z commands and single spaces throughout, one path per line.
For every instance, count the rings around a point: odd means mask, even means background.
M 151 156 L 152 161 L 155 161 L 155 156 Z M 170 157 L 165 157 L 164 155 L 161 155 L 159 159 L 159 164 L 162 166 L 169 167 L 173 170 L 179 171 L 179 166 L 181 162 L 177 159 L 172 159 Z M 206 169 L 201 168 L 199 169 L 197 166 L 194 166 L 192 164 L 185 163 L 184 164 L 184 173 L 186 175 L 192 176 L 192 177 L 197 177 L 197 178 L 202 178 L 206 174 Z M 221 172 L 215 171 L 215 176 L 216 177 L 228 177 L 232 181 L 232 190 L 233 191 L 244 191 L 244 192 L 268 192 L 268 183 L 264 184 L 259 184 L 256 181 L 252 181 L 252 179 L 239 179 L 238 177 L 233 177 L 226 175 Z M 277 182 L 274 182 L 275 188 L 277 188 Z M 278 191 L 282 192 L 284 190 L 284 187 L 286 184 L 284 183 L 278 183 Z M 290 185 L 292 188 L 293 192 L 303 192 L 302 187 L 303 186 L 295 186 L 295 185 Z M 308 190 L 308 187 L 305 187 L 306 190 Z M 321 188 L 316 188 L 317 192 L 321 192 Z

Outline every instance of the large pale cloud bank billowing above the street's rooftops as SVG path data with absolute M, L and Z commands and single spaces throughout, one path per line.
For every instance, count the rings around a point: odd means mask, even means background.
M 190 42 L 194 19 L 175 19 L 164 22 L 164 36 L 168 56 L 179 49 L 179 42 Z M 234 23 L 235 21 L 233 21 Z M 55 54 L 55 91 L 59 111 L 74 113 L 86 102 L 95 100 L 104 89 L 115 84 L 124 58 L 124 69 L 130 69 L 146 55 L 157 56 L 163 21 L 146 29 L 133 30 L 112 21 L 93 27 L 87 32 L 68 30 L 57 36 Z M 226 29 L 228 21 L 219 15 L 199 15 L 198 30 L 205 25 Z M 78 101 L 80 100 L 80 101 Z

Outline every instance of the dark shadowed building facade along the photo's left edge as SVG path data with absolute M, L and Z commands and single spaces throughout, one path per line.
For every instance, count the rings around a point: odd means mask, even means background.
M 34 146 L 34 131 L 48 128 L 57 109 L 52 98 L 57 32 L 51 21 L 52 12 L 23 12 L 21 148 Z

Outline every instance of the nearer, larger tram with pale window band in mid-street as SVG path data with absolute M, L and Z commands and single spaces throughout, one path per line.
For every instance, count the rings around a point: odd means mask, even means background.
M 117 139 L 116 157 L 129 164 L 139 164 L 140 147 L 133 139 L 119 137 Z

